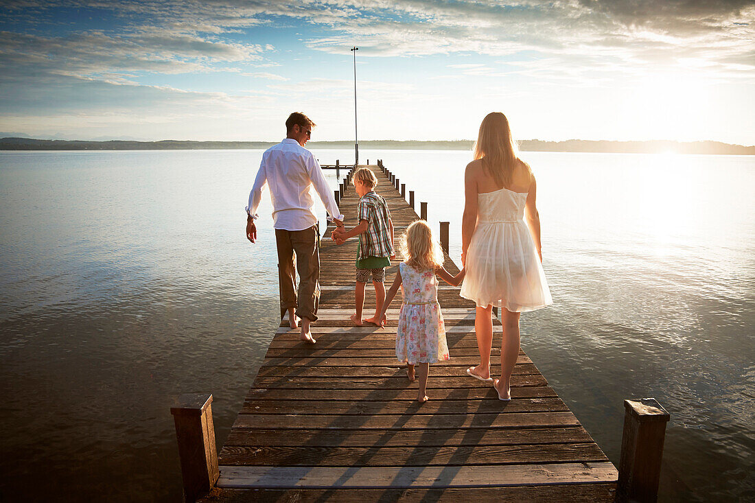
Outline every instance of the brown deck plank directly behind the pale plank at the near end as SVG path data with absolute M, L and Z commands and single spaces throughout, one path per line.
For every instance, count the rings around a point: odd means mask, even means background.
M 402 467 L 474 466 L 608 461 L 595 443 L 553 443 L 518 446 L 437 447 L 279 447 L 225 446 L 220 464 L 255 466 Z

